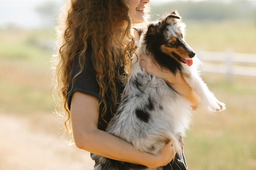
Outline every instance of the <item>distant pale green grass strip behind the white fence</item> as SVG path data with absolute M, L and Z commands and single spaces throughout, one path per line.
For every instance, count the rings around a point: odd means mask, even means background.
M 195 50 L 256 53 L 256 25 L 249 21 L 186 22 L 186 40 Z

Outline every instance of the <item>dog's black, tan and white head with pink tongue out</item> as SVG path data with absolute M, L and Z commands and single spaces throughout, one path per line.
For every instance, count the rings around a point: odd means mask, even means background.
M 182 70 L 183 63 L 191 66 L 194 50 L 185 42 L 185 24 L 177 11 L 171 12 L 159 22 L 151 23 L 144 34 L 146 53 L 152 54 L 162 67 L 174 74 Z

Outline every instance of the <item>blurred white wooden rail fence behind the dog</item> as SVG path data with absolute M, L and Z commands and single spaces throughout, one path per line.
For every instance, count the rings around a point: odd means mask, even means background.
M 243 75 L 256 78 L 256 54 L 199 51 L 197 57 L 203 62 L 202 72 L 223 73 L 227 81 L 233 75 Z

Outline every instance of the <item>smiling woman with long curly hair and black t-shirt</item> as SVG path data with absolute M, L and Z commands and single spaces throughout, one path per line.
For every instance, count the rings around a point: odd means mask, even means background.
M 139 36 L 131 27 L 144 21 L 143 10 L 148 2 L 71 0 L 67 3 L 68 12 L 62 16 L 65 25 L 58 28 L 62 40 L 56 68 L 60 106 L 65 108 L 65 127 L 78 148 L 149 168 L 167 165 L 186 169 L 185 161 L 180 161 L 183 158 L 173 159 L 176 152 L 171 143 L 153 155 L 105 132 L 123 90 L 121 77 L 124 72 L 129 75 L 128 51 L 135 49 L 134 39 Z M 142 56 L 141 66 L 173 84 L 197 108 L 198 98 L 181 75 L 174 77 L 162 71 L 147 56 Z M 169 164 L 171 160 L 174 161 Z

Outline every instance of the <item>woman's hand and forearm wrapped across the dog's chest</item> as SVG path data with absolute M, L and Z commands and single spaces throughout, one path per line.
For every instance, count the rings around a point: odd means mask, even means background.
M 177 73 L 177 75 L 174 76 L 170 71 L 162 70 L 156 62 L 152 61 L 151 57 L 146 55 L 141 56 L 140 64 L 147 73 L 155 75 L 157 78 L 163 79 L 172 85 L 172 87 L 174 87 L 182 97 L 192 104 L 192 109 L 197 109 L 199 105 L 199 98 L 180 73 Z

